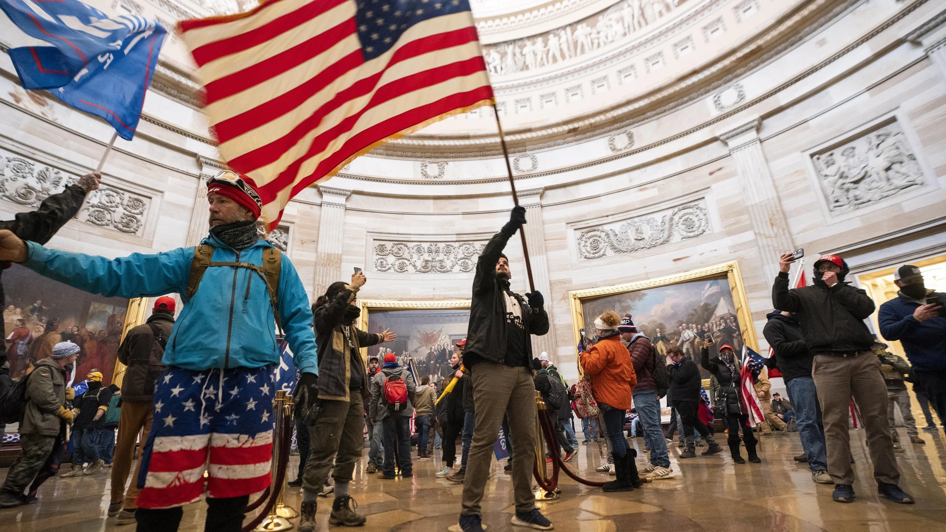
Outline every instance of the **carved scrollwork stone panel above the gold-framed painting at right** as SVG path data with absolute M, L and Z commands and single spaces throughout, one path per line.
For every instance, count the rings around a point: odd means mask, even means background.
M 657 248 L 712 232 L 706 201 L 634 218 L 575 230 L 581 260 Z

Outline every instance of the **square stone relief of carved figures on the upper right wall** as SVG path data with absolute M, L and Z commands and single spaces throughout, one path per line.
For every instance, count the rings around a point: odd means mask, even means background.
M 926 183 L 896 120 L 811 157 L 832 214 L 855 211 Z

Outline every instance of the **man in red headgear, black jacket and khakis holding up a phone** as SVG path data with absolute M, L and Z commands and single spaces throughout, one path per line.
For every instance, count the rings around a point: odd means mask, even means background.
M 870 350 L 873 335 L 864 323 L 874 312 L 874 301 L 864 290 L 845 283 L 848 264 L 830 254 L 815 261 L 814 285 L 790 290 L 788 272 L 793 262 L 792 253 L 780 256 L 772 304 L 794 313 L 805 344 L 815 355 L 812 374 L 824 419 L 828 474 L 834 481 L 832 498 L 839 503 L 854 500 L 848 434 L 853 398 L 867 428 L 878 494 L 895 503 L 912 504 L 913 497 L 898 486 L 900 469 L 887 422 L 886 386 L 880 361 Z

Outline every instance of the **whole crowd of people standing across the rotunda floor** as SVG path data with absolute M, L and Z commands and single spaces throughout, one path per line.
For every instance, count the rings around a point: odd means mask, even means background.
M 582 377 L 569 387 L 547 353 L 533 353 L 532 335 L 545 335 L 550 327 L 543 295 L 523 296 L 510 288 L 512 272 L 502 250 L 526 223 L 525 209 L 517 207 L 478 259 L 467 337 L 428 353 L 434 365 L 448 360 L 443 363 L 448 371 L 437 371 L 432 379 L 424 373 L 418 383 L 394 352 L 385 350 L 367 361 L 361 356 L 361 348 L 396 338 L 388 330 L 370 334 L 356 326 L 360 309 L 355 302 L 367 282 L 363 272 L 330 284 L 309 305 L 289 259 L 258 238 L 261 202 L 253 185 L 225 173 L 209 181 L 208 201 L 208 238 L 196 248 L 158 255 L 110 260 L 45 249 L 40 243 L 55 232 L 52 222 L 43 234 L 9 226 L 0 231 L 0 260 L 106 296 L 180 293 L 186 313 L 186 319 L 175 321 L 175 300 L 159 298 L 148 322 L 126 335 L 118 350 L 127 366 L 122 390 L 104 386 L 99 370 L 89 371 L 82 386 L 70 386 L 80 348 L 68 340 L 56 343 L 15 383 L 5 366 L 7 374 L 0 377 L 6 379 L 0 383 L 22 390 L 23 453 L 0 489 L 0 507 L 34 501 L 36 489 L 56 474 L 71 442 L 72 470 L 63 476 L 99 471 L 114 448 L 108 513 L 117 523 L 137 523 L 140 532 L 177 530 L 182 506 L 206 491 L 205 529 L 236 532 L 250 494 L 267 488 L 272 479 L 277 329 L 299 371 L 293 397 L 300 464 L 290 485 L 302 488 L 302 532 L 316 527 L 318 497 L 332 493 L 329 523 L 366 523 L 349 495 L 366 426 L 365 471 L 380 480 L 414 474 L 415 431 L 416 459 L 430 458 L 439 445 L 444 469 L 435 476 L 463 485 L 458 519 L 463 532 L 483 530 L 482 499 L 494 444 L 502 434 L 510 455 L 504 469 L 513 486 L 512 523 L 551 529 L 532 489 L 539 438 L 536 391 L 555 435 L 545 442 L 547 461 L 568 462 L 576 455 L 577 414 L 585 443 L 601 441 L 607 447 L 607 463 L 599 471 L 615 478 L 604 491 L 630 491 L 641 488 L 643 480 L 678 476 L 667 449 L 677 427 L 681 460 L 696 458 L 697 447 L 705 447 L 701 455 L 713 459 L 723 452 L 714 420 L 721 420 L 727 432 L 733 462 L 761 462 L 754 430 L 758 420 L 769 431 L 797 430 L 804 453 L 796 460 L 808 463 L 815 482 L 833 484 L 833 500 L 844 503 L 854 499 L 853 400 L 867 428 L 878 493 L 896 503 L 913 502 L 899 486 L 895 410 L 907 424 L 910 441 L 921 445 L 906 383 L 940 419 L 946 407 L 946 317 L 939 304 L 946 295 L 927 290 L 916 266 L 897 269 L 901 291 L 879 314 L 881 335 L 902 343 L 909 364 L 870 334 L 864 320 L 874 303 L 844 281 L 848 266 L 841 258 L 820 257 L 815 283 L 789 289 L 789 254 L 781 257 L 773 286 L 779 310 L 769 314 L 764 328 L 773 353 L 765 364 L 780 369 L 788 400 L 770 394 L 764 370 L 754 372 L 751 386 L 744 386 L 744 361 L 736 355 L 743 339 L 734 321 L 681 325 L 672 341 L 659 332 L 649 338 L 631 315 L 614 311 L 596 317 L 594 334 L 583 335 L 577 346 Z M 57 215 L 68 219 L 71 214 Z M 220 290 L 230 294 L 225 301 Z M 221 313 L 229 320 L 225 328 L 219 327 Z M 710 393 L 702 386 L 701 368 L 712 375 Z M 4 390 L 0 397 L 10 396 Z M 669 435 L 661 419 L 662 399 L 672 408 Z M 749 411 L 753 404 L 760 405 L 759 412 Z M 641 467 L 636 447 L 626 438 L 629 413 L 634 432 L 645 442 Z M 103 436 L 108 434 L 111 438 Z M 142 446 L 126 490 L 136 441 Z M 235 447 L 239 453 L 231 452 Z

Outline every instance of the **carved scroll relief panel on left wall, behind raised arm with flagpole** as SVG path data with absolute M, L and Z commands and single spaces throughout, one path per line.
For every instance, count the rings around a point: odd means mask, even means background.
M 0 149 L 0 198 L 35 209 L 79 176 Z M 108 230 L 143 236 L 151 197 L 101 185 L 86 197 L 76 218 Z

